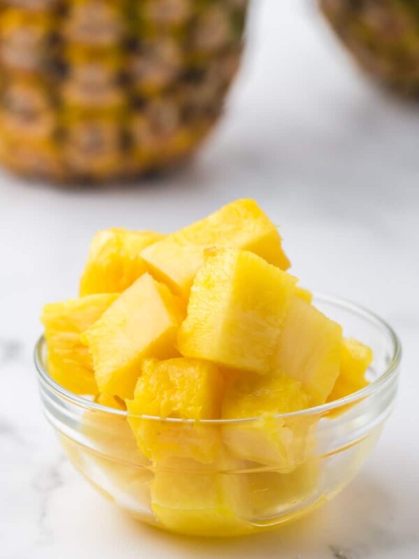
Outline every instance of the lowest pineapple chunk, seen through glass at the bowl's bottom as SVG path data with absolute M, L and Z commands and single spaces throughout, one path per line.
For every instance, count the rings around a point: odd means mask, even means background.
M 249 489 L 235 461 L 210 469 L 193 460 L 166 460 L 150 486 L 152 511 L 168 530 L 189 535 L 238 535 L 251 531 Z M 219 470 L 216 472 L 215 470 Z

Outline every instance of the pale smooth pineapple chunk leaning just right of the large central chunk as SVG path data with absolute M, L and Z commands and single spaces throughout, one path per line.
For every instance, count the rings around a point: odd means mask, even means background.
M 339 324 L 295 297 L 277 347 L 276 366 L 301 381 L 315 405 L 323 404 L 339 375 L 341 342 Z

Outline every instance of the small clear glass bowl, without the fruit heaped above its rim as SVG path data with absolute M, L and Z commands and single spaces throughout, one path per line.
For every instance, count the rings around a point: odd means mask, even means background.
M 127 412 L 74 395 L 35 362 L 43 411 L 71 463 L 135 518 L 189 535 L 231 536 L 293 521 L 334 497 L 360 470 L 395 402 L 401 347 L 383 320 L 332 296 L 314 304 L 372 347 L 369 386 L 302 412 L 230 421 L 130 416 L 154 444 L 145 456 Z M 258 455 L 250 461 L 248 453 Z

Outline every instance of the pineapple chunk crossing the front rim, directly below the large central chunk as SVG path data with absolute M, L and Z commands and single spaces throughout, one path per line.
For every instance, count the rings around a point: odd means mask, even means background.
M 237 375 L 226 389 L 222 417 L 259 419 L 226 423 L 223 441 L 235 458 L 291 471 L 304 458 L 309 419 L 276 415 L 298 412 L 310 401 L 301 383 L 282 372 Z

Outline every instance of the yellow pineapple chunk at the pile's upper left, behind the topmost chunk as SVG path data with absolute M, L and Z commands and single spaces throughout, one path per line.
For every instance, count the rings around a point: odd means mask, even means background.
M 163 238 L 152 231 L 108 229 L 94 236 L 80 278 L 80 295 L 122 293 L 145 273 L 140 252 Z

